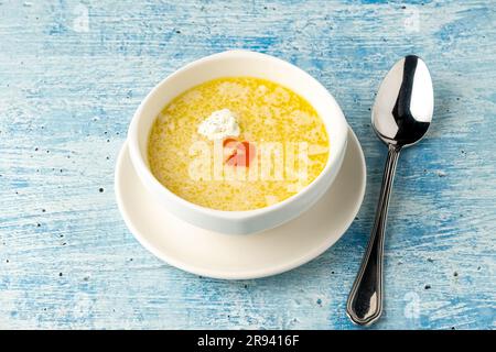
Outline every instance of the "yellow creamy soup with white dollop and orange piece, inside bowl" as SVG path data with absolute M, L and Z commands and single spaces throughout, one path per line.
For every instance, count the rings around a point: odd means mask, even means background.
M 204 82 L 163 108 L 148 161 L 177 196 L 219 210 L 282 201 L 323 170 L 330 141 L 301 96 L 276 82 L 229 77 Z

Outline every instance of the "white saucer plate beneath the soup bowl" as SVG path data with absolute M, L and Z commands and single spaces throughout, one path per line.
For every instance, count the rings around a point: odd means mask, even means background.
M 306 212 L 256 234 L 223 234 L 169 213 L 141 185 L 127 143 L 116 166 L 116 197 L 129 230 L 151 253 L 183 271 L 215 278 L 270 276 L 300 266 L 332 246 L 352 224 L 364 199 L 366 166 L 349 129 L 345 160 L 326 194 Z

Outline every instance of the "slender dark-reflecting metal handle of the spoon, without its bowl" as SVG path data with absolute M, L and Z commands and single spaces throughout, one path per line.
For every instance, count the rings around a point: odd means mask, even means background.
M 389 195 L 401 147 L 389 144 L 376 220 L 360 270 L 349 293 L 346 311 L 353 322 L 366 326 L 382 312 L 382 253 Z

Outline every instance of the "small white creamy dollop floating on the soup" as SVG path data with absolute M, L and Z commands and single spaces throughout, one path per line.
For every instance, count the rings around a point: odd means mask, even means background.
M 229 109 L 222 109 L 212 112 L 198 125 L 198 133 L 211 141 L 215 141 L 228 136 L 238 136 L 240 131 L 236 116 Z

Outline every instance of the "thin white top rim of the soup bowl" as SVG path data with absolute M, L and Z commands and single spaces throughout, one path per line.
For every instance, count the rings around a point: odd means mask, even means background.
M 274 205 L 267 206 L 263 208 L 251 209 L 251 210 L 220 210 L 220 209 L 207 208 L 207 207 L 191 202 L 191 201 L 177 196 L 176 194 L 171 191 L 169 188 L 166 188 L 164 185 L 162 185 L 155 178 L 155 176 L 150 170 L 150 168 L 147 166 L 147 163 L 144 162 L 143 157 L 141 157 L 141 153 L 140 153 L 140 146 L 139 146 L 139 142 L 138 142 L 139 141 L 138 131 L 139 131 L 140 117 L 143 114 L 144 110 L 148 108 L 149 101 L 155 95 L 158 95 L 159 90 L 164 85 L 166 85 L 168 81 L 170 81 L 173 77 L 180 76 L 181 74 L 183 74 L 184 72 L 186 72 L 188 69 L 192 69 L 193 67 L 197 67 L 197 66 L 204 65 L 205 63 L 217 61 L 219 58 L 226 58 L 226 57 L 230 57 L 230 58 L 248 57 L 248 58 L 252 58 L 252 59 L 271 61 L 278 65 L 281 65 L 282 67 L 284 67 L 284 69 L 295 70 L 300 75 L 303 75 L 306 79 L 309 79 L 314 85 L 316 85 L 320 89 L 322 89 L 326 96 L 326 99 L 328 99 L 330 102 L 334 106 L 336 116 L 333 118 L 336 119 L 336 125 L 333 125 L 333 128 L 342 129 L 342 131 L 338 131 L 338 133 L 337 133 L 337 135 L 341 135 L 342 138 L 338 139 L 337 141 L 333 141 L 333 143 L 331 144 L 331 145 L 333 145 L 333 150 L 335 152 L 328 154 L 326 165 L 324 166 L 322 172 L 309 185 L 303 187 L 296 194 L 292 195 L 291 197 L 288 197 L 284 200 L 281 200 Z M 247 76 L 249 76 L 249 75 L 247 75 Z M 287 87 L 287 88 L 293 90 L 292 87 Z M 326 121 L 324 121 L 324 124 L 328 132 L 328 123 Z M 129 130 L 128 130 L 128 141 L 129 141 L 129 153 L 131 156 L 131 161 L 132 161 L 132 164 L 134 165 L 134 167 L 137 167 L 138 175 L 141 175 L 142 177 L 144 177 L 145 182 L 149 183 L 149 185 L 151 185 L 153 187 L 153 189 L 160 191 L 160 196 L 168 198 L 172 202 L 180 204 L 183 207 L 188 208 L 190 210 L 201 212 L 206 216 L 211 216 L 211 217 L 214 216 L 214 217 L 218 217 L 218 218 L 228 218 L 228 219 L 249 219 L 249 218 L 255 218 L 262 213 L 276 212 L 276 211 L 280 210 L 281 208 L 287 207 L 288 205 L 298 201 L 299 199 L 304 197 L 305 194 L 310 193 L 315 187 L 317 187 L 319 182 L 326 174 L 330 173 L 330 170 L 332 169 L 333 166 L 335 166 L 337 164 L 337 166 L 341 167 L 341 163 L 339 163 L 342 161 L 341 154 L 345 152 L 346 143 L 347 143 L 347 129 L 348 129 L 348 124 L 346 122 L 344 113 L 343 113 L 341 107 L 338 106 L 338 103 L 336 102 L 336 100 L 334 99 L 334 97 L 320 81 L 317 81 L 310 74 L 308 74 L 300 67 L 298 67 L 289 62 L 285 62 L 281 58 L 278 58 L 278 57 L 274 57 L 274 56 L 271 56 L 268 54 L 252 52 L 252 51 L 248 51 L 248 50 L 230 50 L 230 51 L 225 51 L 225 52 L 216 53 L 213 55 L 204 56 L 194 62 L 191 62 L 191 63 L 182 66 L 181 68 L 176 69 L 175 72 L 173 72 L 172 74 L 166 76 L 164 79 L 162 79 L 158 85 L 155 85 L 150 90 L 150 92 L 145 96 L 145 98 L 141 101 L 140 106 L 138 107 L 138 109 L 136 110 L 136 112 L 132 117 L 132 120 L 131 120 L 131 123 L 130 123 Z

